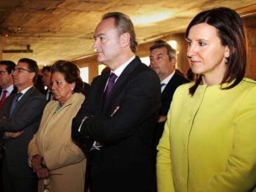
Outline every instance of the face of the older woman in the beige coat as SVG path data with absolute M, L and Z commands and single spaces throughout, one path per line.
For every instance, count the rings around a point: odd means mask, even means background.
M 60 72 L 55 72 L 51 75 L 51 89 L 54 98 L 65 104 L 67 100 L 72 96 L 72 92 L 75 88 L 75 83 L 67 83 L 65 77 Z

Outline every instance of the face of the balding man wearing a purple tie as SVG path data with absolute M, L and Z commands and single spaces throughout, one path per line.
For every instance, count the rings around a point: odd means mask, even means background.
M 114 25 L 114 19 L 102 20 L 95 29 L 94 37 L 93 49 L 96 50 L 97 61 L 111 67 L 122 55 L 120 35 Z

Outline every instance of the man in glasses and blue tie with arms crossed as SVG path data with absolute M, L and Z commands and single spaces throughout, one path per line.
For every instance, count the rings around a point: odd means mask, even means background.
M 28 167 L 28 143 L 38 130 L 45 108 L 45 96 L 33 84 L 38 65 L 32 59 L 20 59 L 12 71 L 18 93 L 9 96 L 0 111 L 0 128 L 5 131 L 2 157 L 4 191 L 37 191 L 37 178 Z

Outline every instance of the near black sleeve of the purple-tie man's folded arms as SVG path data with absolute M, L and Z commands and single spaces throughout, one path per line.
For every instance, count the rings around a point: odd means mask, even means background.
M 82 124 L 80 134 L 83 137 L 105 144 L 117 143 L 131 136 L 135 129 L 160 107 L 160 81 L 151 70 L 145 70 L 134 77 L 124 88 L 122 98 L 116 98 L 120 109 L 111 117 L 90 116 Z M 88 105 L 88 103 L 87 103 Z M 79 115 L 88 114 L 80 110 Z M 90 115 L 90 113 L 88 114 Z

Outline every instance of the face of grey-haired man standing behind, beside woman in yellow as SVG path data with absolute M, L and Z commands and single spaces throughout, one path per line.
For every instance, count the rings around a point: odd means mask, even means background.
M 160 80 L 168 77 L 175 69 L 176 59 L 169 60 L 166 48 L 156 48 L 150 52 L 150 68 L 160 77 Z

